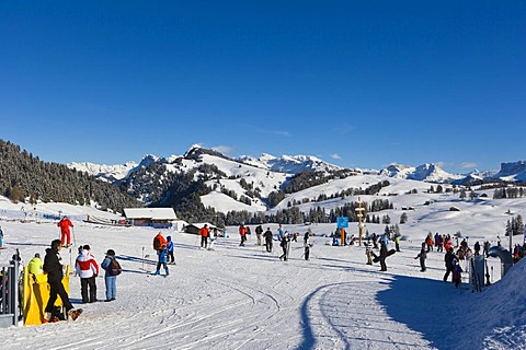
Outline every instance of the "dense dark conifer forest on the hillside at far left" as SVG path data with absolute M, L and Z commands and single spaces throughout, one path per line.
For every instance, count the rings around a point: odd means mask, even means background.
M 58 163 L 47 163 L 19 145 L 0 140 L 0 194 L 13 202 L 28 201 L 91 205 L 122 212 L 141 207 L 136 198 L 87 173 Z

